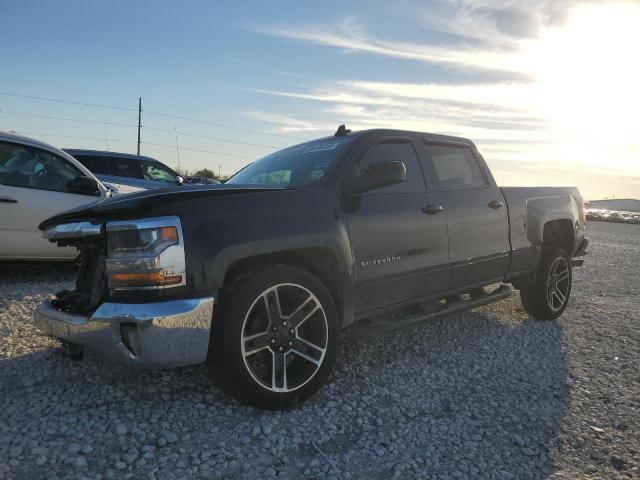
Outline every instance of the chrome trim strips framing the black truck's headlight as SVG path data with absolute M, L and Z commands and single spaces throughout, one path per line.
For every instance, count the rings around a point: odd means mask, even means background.
M 117 287 L 109 285 L 113 291 L 144 291 L 163 290 L 165 288 L 182 287 L 187 284 L 187 268 L 184 252 L 184 238 L 182 236 L 182 223 L 177 216 L 143 218 L 139 220 L 119 220 L 108 222 L 106 225 L 107 235 L 109 232 L 124 230 L 142 230 L 145 228 L 176 227 L 178 231 L 178 244 L 170 245 L 156 256 L 144 257 L 118 257 L 107 258 L 106 270 L 107 279 L 112 273 L 145 273 L 152 271 L 163 271 L 167 275 L 180 275 L 182 281 L 172 285 L 152 285 L 146 287 Z M 150 252 L 147 252 L 147 254 Z M 144 253 L 143 253 L 144 255 Z

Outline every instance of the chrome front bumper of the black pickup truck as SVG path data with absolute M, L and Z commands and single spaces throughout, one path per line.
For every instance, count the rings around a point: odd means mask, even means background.
M 154 303 L 103 303 L 90 317 L 45 301 L 36 326 L 98 356 L 139 368 L 180 367 L 207 358 L 213 297 Z

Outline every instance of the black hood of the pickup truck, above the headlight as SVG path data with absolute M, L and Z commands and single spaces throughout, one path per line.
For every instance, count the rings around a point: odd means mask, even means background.
M 166 188 L 142 190 L 127 195 L 107 198 L 89 206 L 82 206 L 67 210 L 42 222 L 38 228 L 46 228 L 60 223 L 77 220 L 101 219 L 107 216 L 126 215 L 135 210 L 168 203 L 172 201 L 193 198 L 207 198 L 219 195 L 238 195 L 243 193 L 257 193 L 268 191 L 290 190 L 277 185 L 185 185 Z

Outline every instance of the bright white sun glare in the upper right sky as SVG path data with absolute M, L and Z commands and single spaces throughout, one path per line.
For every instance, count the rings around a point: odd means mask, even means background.
M 531 51 L 536 107 L 560 135 L 633 143 L 640 135 L 640 5 L 576 7 Z

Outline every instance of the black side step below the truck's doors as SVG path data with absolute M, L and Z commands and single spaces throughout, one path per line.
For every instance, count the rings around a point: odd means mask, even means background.
M 424 315 L 408 315 L 411 318 L 407 320 L 386 320 L 376 322 L 359 322 L 351 327 L 351 331 L 356 338 L 371 339 L 390 333 L 406 330 L 421 325 L 434 318 L 443 317 L 445 315 L 453 315 L 455 313 L 464 312 L 481 305 L 495 302 L 507 298 L 513 293 L 510 285 L 500 285 L 491 293 L 471 297 L 469 300 L 458 299 L 454 302 L 442 304 L 442 307 L 432 313 Z

